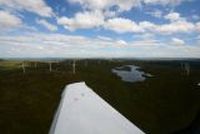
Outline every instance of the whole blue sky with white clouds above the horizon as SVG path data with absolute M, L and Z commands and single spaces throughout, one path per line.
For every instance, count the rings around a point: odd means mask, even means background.
M 0 58 L 200 58 L 200 0 L 0 0 Z

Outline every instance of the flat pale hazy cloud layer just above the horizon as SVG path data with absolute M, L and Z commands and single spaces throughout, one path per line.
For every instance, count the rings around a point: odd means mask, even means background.
M 108 37 L 87 38 L 62 34 L 1 36 L 1 57 L 199 57 L 200 48 L 173 38 L 168 44 L 155 39 L 126 42 Z M 171 45 L 170 45 L 171 44 Z M 4 47 L 6 46 L 6 47 Z M 17 49 L 16 49 L 17 47 Z M 8 57 L 9 57 L 8 56 Z

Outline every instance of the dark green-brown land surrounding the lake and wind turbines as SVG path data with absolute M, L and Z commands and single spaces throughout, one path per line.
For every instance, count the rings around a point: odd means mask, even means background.
M 146 133 L 200 132 L 200 61 L 78 60 L 0 61 L 0 133 L 47 134 L 65 85 L 85 81 Z M 190 65 L 190 74 L 181 67 Z M 123 82 L 111 72 L 134 64 L 154 77 Z

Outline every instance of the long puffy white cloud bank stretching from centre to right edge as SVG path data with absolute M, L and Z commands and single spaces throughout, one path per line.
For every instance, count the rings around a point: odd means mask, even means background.
M 106 16 L 103 16 L 101 12 L 83 12 L 75 14 L 73 18 L 58 18 L 57 22 L 68 30 L 103 27 L 117 33 L 154 32 L 158 34 L 173 34 L 199 32 L 199 22 L 189 22 L 177 12 L 166 14 L 164 19 L 170 22 L 166 24 L 155 24 L 149 21 L 136 23 L 133 20 L 122 17 L 106 19 Z

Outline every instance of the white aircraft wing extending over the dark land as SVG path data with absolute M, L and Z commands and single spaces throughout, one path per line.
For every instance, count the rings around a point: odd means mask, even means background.
M 50 134 L 144 134 L 84 82 L 67 85 Z

